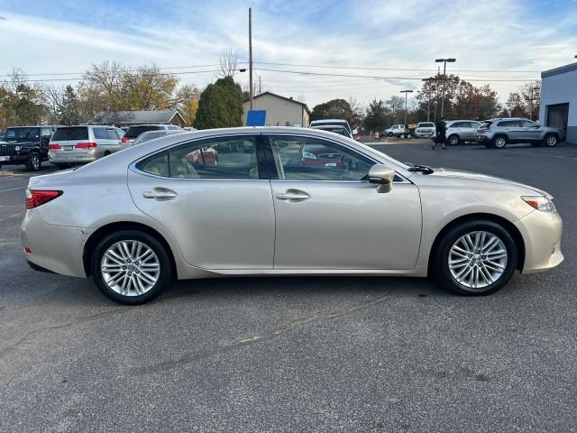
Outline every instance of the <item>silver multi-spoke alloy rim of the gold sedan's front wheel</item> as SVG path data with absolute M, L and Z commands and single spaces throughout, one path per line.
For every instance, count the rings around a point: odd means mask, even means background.
M 499 281 L 507 263 L 508 253 L 503 241 L 485 231 L 461 236 L 449 250 L 449 272 L 469 290 L 482 290 Z

